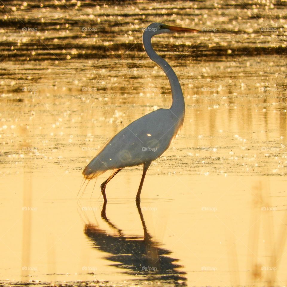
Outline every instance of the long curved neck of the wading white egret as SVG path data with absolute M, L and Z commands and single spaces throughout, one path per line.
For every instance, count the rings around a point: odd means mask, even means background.
M 155 50 L 152 48 L 151 37 L 149 34 L 143 34 L 143 43 L 146 54 L 148 54 L 149 58 L 156 62 L 167 75 L 172 93 L 172 105 L 170 110 L 176 117 L 178 117 L 179 120 L 183 121 L 185 113 L 184 97 L 175 72 L 165 59 L 155 53 Z

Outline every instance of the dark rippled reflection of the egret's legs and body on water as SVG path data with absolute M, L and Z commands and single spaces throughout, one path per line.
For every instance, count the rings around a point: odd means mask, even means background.
M 125 236 L 122 230 L 106 217 L 106 204 L 103 205 L 102 218 L 116 230 L 116 233 L 109 234 L 91 223 L 85 225 L 84 233 L 93 242 L 94 248 L 109 254 L 105 259 L 118 262 L 113 266 L 126 270 L 126 274 L 142 277 L 145 281 L 158 281 L 172 286 L 180 282 L 186 286 L 186 272 L 178 270 L 183 266 L 175 263 L 179 259 L 168 256 L 171 251 L 158 247 L 158 243 L 152 240 L 140 203 L 137 204 L 137 208 L 144 229 L 144 238 Z

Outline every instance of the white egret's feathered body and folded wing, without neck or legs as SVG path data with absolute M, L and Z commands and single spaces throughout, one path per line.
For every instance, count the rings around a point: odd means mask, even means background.
M 158 109 L 140 117 L 97 152 L 83 171 L 84 176 L 94 178 L 106 170 L 154 161 L 169 147 L 181 124 L 182 119 L 170 109 Z

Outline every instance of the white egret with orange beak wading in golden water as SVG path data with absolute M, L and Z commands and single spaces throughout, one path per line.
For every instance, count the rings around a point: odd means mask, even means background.
M 172 32 L 196 33 L 199 30 L 152 23 L 143 32 L 146 54 L 161 67 L 169 80 L 172 105 L 169 109 L 157 109 L 130 123 L 107 141 L 83 170 L 83 176 L 88 180 L 112 170 L 109 178 L 101 184 L 105 204 L 107 183 L 123 168 L 138 165 L 143 165 L 144 169 L 135 201 L 141 201 L 141 190 L 150 164 L 167 150 L 183 124 L 185 104 L 178 77 L 168 62 L 154 51 L 151 43 L 153 36 Z

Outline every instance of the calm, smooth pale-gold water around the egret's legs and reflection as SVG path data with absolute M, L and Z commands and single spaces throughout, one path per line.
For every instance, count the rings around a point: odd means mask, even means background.
M 75 196 L 78 191 L 80 175 L 60 169 L 54 172 L 52 177 L 24 173 L 17 182 L 13 176 L 5 177 L 1 212 L 10 216 L 2 223 L 5 261 L 0 269 L 9 266 L 7 278 L 108 280 L 109 284 L 121 278 L 115 284 L 123 286 L 123 280 L 130 286 L 134 280 L 144 284 L 151 278 L 165 286 L 176 282 L 240 285 L 245 280 L 285 284 L 286 180 L 282 177 L 148 175 L 141 211 L 152 244 L 145 245 L 146 234 L 134 202 L 141 170 L 122 171 L 110 182 L 109 223 L 101 218 L 102 200 L 98 200 L 104 176 L 97 181 L 92 199 L 94 183 L 90 182 L 77 203 L 71 193 Z M 30 201 L 22 197 L 27 193 Z M 28 210 L 23 211 L 23 206 Z M 122 245 L 115 247 L 119 238 Z M 24 253 L 20 242 L 25 245 Z M 115 250 L 106 246 L 109 242 Z M 126 246 L 128 259 L 120 256 Z M 162 256 L 159 266 L 150 267 L 168 268 L 164 270 L 172 279 L 141 271 L 143 261 L 132 248 L 144 257 L 151 251 L 153 257 Z M 22 275 L 15 277 L 23 266 L 28 271 L 22 269 Z

